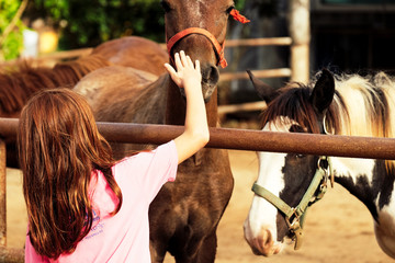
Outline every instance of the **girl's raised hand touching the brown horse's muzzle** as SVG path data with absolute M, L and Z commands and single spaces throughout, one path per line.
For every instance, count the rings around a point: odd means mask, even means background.
M 192 82 L 191 84 L 201 83 L 202 75 L 199 60 L 195 61 L 194 66 L 190 56 L 187 56 L 185 53 L 181 50 L 180 54 L 176 53 L 174 62 L 177 71 L 169 64 L 165 64 L 165 67 L 179 88 L 188 87 L 187 83 L 189 82 Z

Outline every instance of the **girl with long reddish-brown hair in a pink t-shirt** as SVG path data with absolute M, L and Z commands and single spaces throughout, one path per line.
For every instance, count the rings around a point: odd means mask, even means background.
M 45 90 L 22 111 L 19 152 L 29 215 L 25 262 L 150 262 L 148 207 L 180 162 L 208 141 L 200 64 L 176 54 L 185 90 L 182 135 L 154 151 L 114 162 L 88 103 Z

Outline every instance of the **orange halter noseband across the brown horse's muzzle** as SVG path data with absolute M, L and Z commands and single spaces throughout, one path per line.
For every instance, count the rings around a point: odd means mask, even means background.
M 213 44 L 214 50 L 215 50 L 216 55 L 218 56 L 218 64 L 221 65 L 222 68 L 226 68 L 227 61 L 224 56 L 225 41 L 224 41 L 223 45 L 221 45 L 212 33 L 210 33 L 208 31 L 206 31 L 204 28 L 200 28 L 200 27 L 189 27 L 189 28 L 180 31 L 179 33 L 173 35 L 167 43 L 167 49 L 168 49 L 169 55 L 171 54 L 171 49 L 176 43 L 178 43 L 180 39 L 182 39 L 183 37 L 185 37 L 188 35 L 191 35 L 191 34 L 200 34 L 200 35 L 204 35 L 205 37 L 207 37 L 208 41 Z M 170 58 L 171 58 L 171 56 L 170 56 Z

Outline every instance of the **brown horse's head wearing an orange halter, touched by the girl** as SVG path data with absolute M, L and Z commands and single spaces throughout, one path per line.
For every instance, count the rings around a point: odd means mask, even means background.
M 162 0 L 161 4 L 165 9 L 168 44 L 171 37 L 187 28 L 203 28 L 216 39 L 221 47 L 223 46 L 227 20 L 234 9 L 233 0 Z M 173 57 L 177 52 L 184 50 L 192 60 L 201 61 L 203 95 L 208 101 L 219 80 L 217 65 L 221 61 L 221 55 L 215 44 L 207 35 L 188 33 L 173 45 L 168 46 L 168 49 L 170 57 Z

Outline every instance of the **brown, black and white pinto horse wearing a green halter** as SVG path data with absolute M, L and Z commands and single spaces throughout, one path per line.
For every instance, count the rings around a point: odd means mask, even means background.
M 276 91 L 252 73 L 250 78 L 268 102 L 263 130 L 394 137 L 395 82 L 383 72 L 334 77 L 325 69 L 308 85 L 290 83 Z M 272 152 L 258 156 L 256 195 L 244 226 L 256 254 L 279 253 L 284 238 L 294 240 L 295 249 L 301 247 L 305 211 L 323 197 L 331 178 L 366 206 L 377 243 L 395 258 L 394 161 Z

